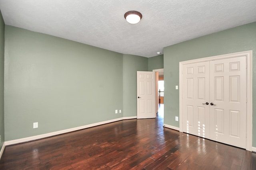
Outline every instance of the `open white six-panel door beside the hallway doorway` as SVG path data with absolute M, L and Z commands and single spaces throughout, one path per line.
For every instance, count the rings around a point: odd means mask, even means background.
M 155 118 L 155 73 L 137 71 L 137 119 Z

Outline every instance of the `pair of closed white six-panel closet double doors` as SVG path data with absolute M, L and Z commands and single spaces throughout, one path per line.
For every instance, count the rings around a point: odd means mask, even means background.
M 182 69 L 183 131 L 246 148 L 246 56 Z

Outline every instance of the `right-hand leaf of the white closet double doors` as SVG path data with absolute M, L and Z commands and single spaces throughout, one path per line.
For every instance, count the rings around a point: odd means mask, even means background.
M 210 61 L 210 139 L 246 148 L 246 56 Z

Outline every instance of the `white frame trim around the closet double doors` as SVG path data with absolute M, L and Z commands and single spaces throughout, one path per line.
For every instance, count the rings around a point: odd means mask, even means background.
M 233 57 L 241 57 L 246 56 L 246 96 L 247 96 L 247 103 L 246 103 L 246 150 L 252 151 L 252 50 L 250 51 L 242 51 L 238 53 L 230 53 L 225 55 L 217 55 L 212 57 L 205 57 L 201 59 L 194 59 L 189 61 L 181 61 L 180 62 L 180 90 L 179 90 L 179 117 L 180 117 L 180 132 L 183 132 L 183 115 L 182 115 L 182 106 L 183 106 L 183 92 L 182 92 L 182 71 L 184 64 L 192 64 L 192 63 L 199 63 L 204 61 L 212 61 L 212 60 L 220 60 L 220 59 L 228 59 Z

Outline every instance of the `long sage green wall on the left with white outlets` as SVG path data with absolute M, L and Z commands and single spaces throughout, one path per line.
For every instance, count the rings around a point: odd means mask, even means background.
M 5 34 L 6 141 L 123 117 L 122 54 L 9 25 Z

